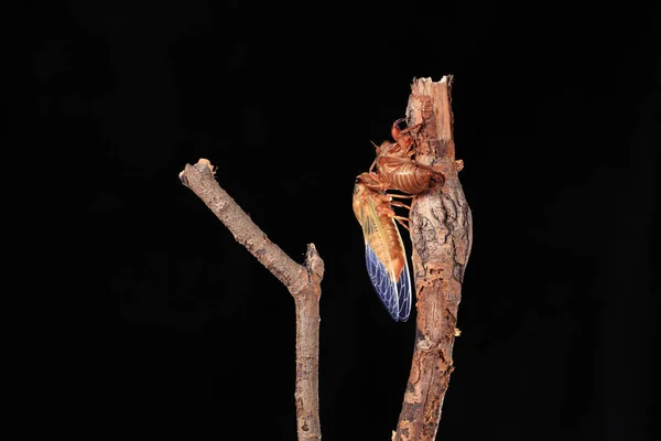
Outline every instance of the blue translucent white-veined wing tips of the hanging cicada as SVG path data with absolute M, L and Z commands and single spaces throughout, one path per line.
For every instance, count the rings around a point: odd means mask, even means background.
M 409 276 L 409 265 L 404 268 L 399 280 L 393 280 L 386 266 L 377 258 L 373 249 L 368 243 L 365 244 L 365 260 L 367 272 L 372 287 L 383 306 L 394 321 L 405 322 L 411 312 L 411 280 Z

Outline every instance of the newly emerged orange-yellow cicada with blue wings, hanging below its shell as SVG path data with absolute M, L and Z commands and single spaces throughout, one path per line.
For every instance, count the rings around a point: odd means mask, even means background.
M 362 173 L 354 186 L 354 214 L 362 227 L 365 259 L 372 287 L 395 321 L 411 312 L 411 276 L 404 244 L 394 222 L 390 196 L 372 189 L 373 174 Z

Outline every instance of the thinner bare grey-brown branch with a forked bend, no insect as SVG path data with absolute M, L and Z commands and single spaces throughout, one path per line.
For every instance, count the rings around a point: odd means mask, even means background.
M 231 232 L 235 239 L 278 278 L 296 306 L 296 420 L 299 441 L 322 439 L 318 402 L 319 298 L 324 261 L 314 244 L 307 245 L 305 265 L 292 260 L 250 219 L 214 178 L 206 159 L 186 164 L 180 180 L 199 196 Z

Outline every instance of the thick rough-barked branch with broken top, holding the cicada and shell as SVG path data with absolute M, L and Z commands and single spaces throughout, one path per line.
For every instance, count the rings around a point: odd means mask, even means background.
M 473 219 L 455 161 L 451 80 L 415 79 L 407 108 L 409 126 L 423 122 L 415 135 L 416 160 L 434 164 L 446 182 L 415 197 L 411 207 L 418 330 L 395 440 L 434 440 L 454 368 L 452 348 Z

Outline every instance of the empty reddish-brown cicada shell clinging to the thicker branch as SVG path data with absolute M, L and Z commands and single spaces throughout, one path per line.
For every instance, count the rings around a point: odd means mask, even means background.
M 377 169 L 379 181 L 387 190 L 399 190 L 408 194 L 419 194 L 445 183 L 443 173 L 433 166 L 420 164 L 415 161 L 414 141 L 410 131 L 420 125 L 400 130 L 398 119 L 392 125 L 392 138 L 394 142 L 386 141 L 377 146 L 377 159 L 370 168 L 370 172 Z

